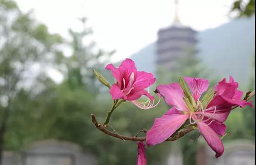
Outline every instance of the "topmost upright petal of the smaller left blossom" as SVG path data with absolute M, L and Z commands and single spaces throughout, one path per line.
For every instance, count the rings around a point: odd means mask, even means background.
M 119 72 L 122 79 L 125 79 L 127 85 L 129 84 L 132 74 L 134 74 L 134 80 L 137 79 L 137 68 L 134 61 L 131 59 L 127 58 L 126 60 L 122 61 L 122 64 L 119 66 Z

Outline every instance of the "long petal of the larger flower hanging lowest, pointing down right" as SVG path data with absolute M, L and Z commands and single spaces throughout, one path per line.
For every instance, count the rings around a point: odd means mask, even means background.
M 224 146 L 218 134 L 216 134 L 216 132 L 214 132 L 214 130 L 205 122 L 198 122 L 197 125 L 200 133 L 205 138 L 205 141 L 211 149 L 215 151 L 215 157 L 220 157 L 224 153 Z

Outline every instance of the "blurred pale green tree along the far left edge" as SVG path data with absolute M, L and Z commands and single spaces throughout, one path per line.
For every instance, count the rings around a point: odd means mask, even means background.
M 34 67 L 47 67 L 58 54 L 56 46 L 62 42 L 59 35 L 48 33 L 44 24 L 38 24 L 30 13 L 23 14 L 12 0 L 0 2 L 0 162 L 5 146 L 5 134 L 13 109 L 13 100 L 28 82 L 39 82 L 45 72 Z M 40 78 L 40 79 L 39 79 Z M 34 92 L 39 92 L 38 88 Z

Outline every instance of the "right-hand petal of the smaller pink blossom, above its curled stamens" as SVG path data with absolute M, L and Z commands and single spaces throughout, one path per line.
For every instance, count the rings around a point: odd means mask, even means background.
M 152 73 L 138 72 L 137 79 L 133 85 L 134 91 L 140 91 L 155 83 L 155 78 Z

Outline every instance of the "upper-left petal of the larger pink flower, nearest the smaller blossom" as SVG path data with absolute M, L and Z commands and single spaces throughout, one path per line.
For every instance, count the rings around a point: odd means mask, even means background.
M 160 85 L 156 87 L 156 90 L 165 99 L 167 104 L 173 105 L 177 110 L 188 111 L 183 100 L 184 93 L 178 83 Z

